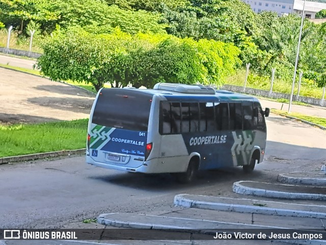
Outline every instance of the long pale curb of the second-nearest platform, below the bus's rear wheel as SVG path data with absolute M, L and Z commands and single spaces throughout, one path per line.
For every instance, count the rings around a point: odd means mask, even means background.
M 188 195 L 176 195 L 174 197 L 174 204 L 176 206 L 187 207 L 187 208 L 194 207 L 194 208 L 219 210 L 219 211 L 257 213 L 260 215 L 326 219 L 326 213 L 322 213 L 322 212 L 271 208 L 271 207 L 264 207 L 264 206 L 250 206 L 250 205 L 243 205 L 243 204 L 230 204 L 230 203 L 221 203 L 221 202 L 205 202 L 205 201 L 192 200 L 186 198 L 185 196 Z M 271 203 L 271 202 L 264 201 L 264 203 Z M 303 205 L 303 206 L 310 206 L 310 205 Z M 322 206 L 320 207 L 322 208 Z

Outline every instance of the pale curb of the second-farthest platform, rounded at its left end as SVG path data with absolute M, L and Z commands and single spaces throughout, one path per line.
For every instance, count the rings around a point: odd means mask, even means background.
M 326 201 L 326 195 L 269 191 L 269 190 L 265 190 L 265 189 L 246 187 L 246 186 L 241 185 L 242 182 L 255 182 L 255 181 L 234 182 L 233 188 L 232 188 L 233 192 L 235 192 L 237 194 L 242 194 L 242 195 L 251 195 L 251 196 L 259 196 L 259 197 Z

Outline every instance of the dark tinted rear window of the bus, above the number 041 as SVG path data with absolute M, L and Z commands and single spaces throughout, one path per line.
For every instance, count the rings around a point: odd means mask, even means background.
M 133 131 L 147 131 L 153 95 L 137 90 L 104 88 L 98 96 L 93 124 Z

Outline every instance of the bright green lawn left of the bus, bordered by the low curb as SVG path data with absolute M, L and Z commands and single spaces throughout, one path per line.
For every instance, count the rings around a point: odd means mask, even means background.
M 0 157 L 86 147 L 88 119 L 0 125 Z

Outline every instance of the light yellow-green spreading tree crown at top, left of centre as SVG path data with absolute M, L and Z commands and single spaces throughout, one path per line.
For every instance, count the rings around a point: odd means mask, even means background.
M 51 0 L 52 10 L 60 18 L 55 24 L 63 29 L 80 26 L 88 32 L 107 34 L 120 27 L 126 33 L 138 32 L 165 33 L 165 24 L 159 24 L 160 14 L 146 11 L 121 9 L 116 5 L 108 6 L 102 0 Z

